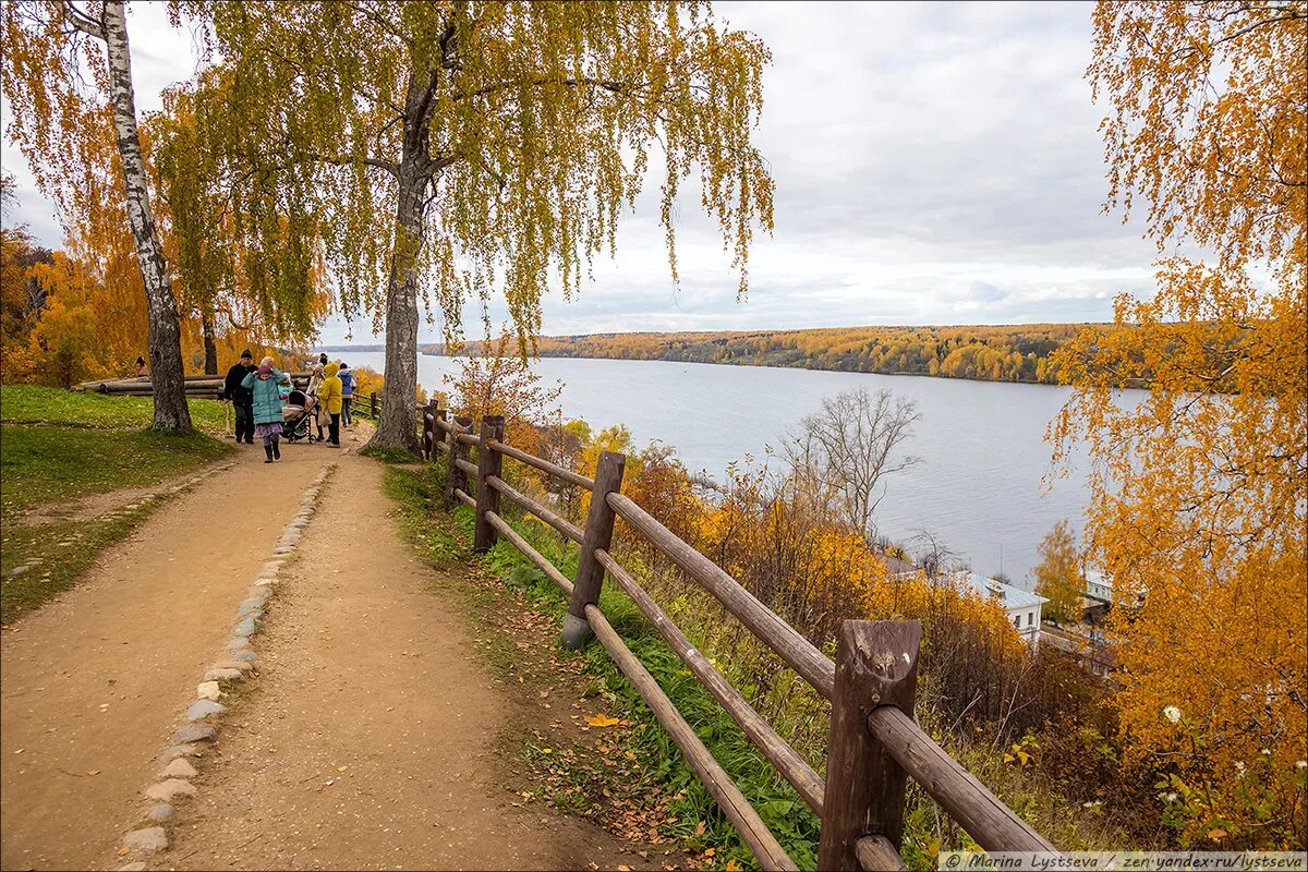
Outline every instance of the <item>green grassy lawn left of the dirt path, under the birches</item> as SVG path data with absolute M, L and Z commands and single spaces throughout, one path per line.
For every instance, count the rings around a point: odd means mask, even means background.
M 72 587 L 99 552 L 122 541 L 165 502 L 137 501 L 112 516 L 20 526 L 43 503 L 67 503 L 119 488 L 141 488 L 191 472 L 232 451 L 222 405 L 191 400 L 204 433 L 149 430 L 148 397 L 111 397 L 25 384 L 0 387 L 0 622 L 8 624 Z M 22 565 L 27 569 L 10 573 Z

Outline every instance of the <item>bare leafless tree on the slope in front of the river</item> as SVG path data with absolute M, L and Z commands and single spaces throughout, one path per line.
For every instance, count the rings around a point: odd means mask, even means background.
M 782 452 L 797 477 L 811 482 L 816 502 L 872 537 L 884 477 L 921 460 L 897 451 L 921 417 L 917 403 L 891 391 L 845 391 L 791 429 Z

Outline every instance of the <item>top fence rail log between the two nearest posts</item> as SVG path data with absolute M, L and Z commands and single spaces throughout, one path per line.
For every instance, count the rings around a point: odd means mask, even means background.
M 731 614 L 749 628 L 759 639 L 777 652 L 799 676 L 821 696 L 831 699 L 836 665 L 812 642 L 782 621 L 740 582 L 731 578 L 708 557 L 695 550 L 676 535 L 623 494 L 610 494 L 607 501 L 619 518 L 649 539 L 681 570 L 713 594 Z

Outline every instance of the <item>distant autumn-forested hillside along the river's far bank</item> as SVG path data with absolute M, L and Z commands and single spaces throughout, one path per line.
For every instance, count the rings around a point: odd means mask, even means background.
M 824 329 L 542 336 L 542 357 L 790 366 L 840 373 L 1057 383 L 1049 356 L 1086 324 L 835 327 Z M 1109 329 L 1109 326 L 1091 326 Z M 442 354 L 439 345 L 424 349 Z

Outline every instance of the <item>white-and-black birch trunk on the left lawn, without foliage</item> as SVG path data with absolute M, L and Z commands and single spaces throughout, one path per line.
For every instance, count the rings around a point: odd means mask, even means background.
M 191 411 L 186 405 L 186 379 L 182 367 L 182 331 L 177 299 L 169 280 L 164 250 L 154 230 L 145 161 L 136 131 L 136 97 L 132 90 L 132 56 L 127 44 L 127 18 L 122 0 L 105 3 L 105 46 L 109 56 L 110 99 L 118 150 L 123 158 L 123 184 L 127 191 L 127 218 L 136 241 L 136 259 L 145 281 L 149 311 L 150 382 L 154 392 L 154 429 L 190 430 Z

